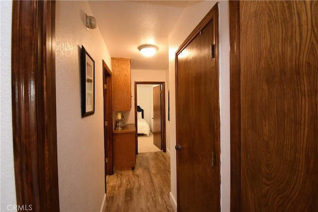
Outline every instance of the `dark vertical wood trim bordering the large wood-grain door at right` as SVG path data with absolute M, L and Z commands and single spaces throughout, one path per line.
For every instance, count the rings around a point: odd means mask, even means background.
M 240 211 L 240 46 L 239 1 L 229 2 L 230 13 L 230 128 L 231 212 Z

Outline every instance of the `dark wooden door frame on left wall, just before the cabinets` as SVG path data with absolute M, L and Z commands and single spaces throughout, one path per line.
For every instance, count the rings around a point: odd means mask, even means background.
M 106 175 L 114 174 L 113 159 L 113 85 L 111 71 L 105 61 L 103 63 L 103 105 L 104 105 L 104 149 L 105 149 L 105 191 Z

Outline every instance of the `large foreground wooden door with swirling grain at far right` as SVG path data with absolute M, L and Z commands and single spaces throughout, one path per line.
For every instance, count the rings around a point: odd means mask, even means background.
M 238 8 L 239 210 L 316 212 L 318 1 Z

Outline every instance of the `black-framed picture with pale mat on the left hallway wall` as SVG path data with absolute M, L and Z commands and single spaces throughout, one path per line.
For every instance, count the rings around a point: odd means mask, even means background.
M 95 112 L 95 62 L 81 46 L 81 117 Z

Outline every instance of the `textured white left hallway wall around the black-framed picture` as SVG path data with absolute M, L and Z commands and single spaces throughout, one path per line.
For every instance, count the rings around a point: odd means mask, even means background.
M 105 195 L 102 60 L 98 29 L 86 30 L 87 1 L 56 1 L 56 103 L 60 210 L 99 211 Z M 95 113 L 81 118 L 81 45 L 95 61 Z

